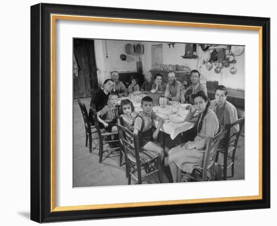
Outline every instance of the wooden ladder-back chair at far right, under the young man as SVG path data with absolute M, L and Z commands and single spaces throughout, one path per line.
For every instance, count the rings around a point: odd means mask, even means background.
M 237 132 L 233 132 L 234 129 L 239 126 Z M 216 162 L 218 162 L 219 154 L 223 154 L 223 180 L 227 178 L 234 177 L 234 166 L 235 166 L 235 154 L 241 134 L 242 127 L 244 126 L 244 118 L 238 119 L 231 124 L 227 124 L 224 129 L 225 137 L 220 143 L 217 153 Z M 236 130 L 235 130 L 236 131 Z M 231 162 L 228 163 L 228 159 L 231 159 Z M 232 166 L 232 174 L 227 177 L 227 170 Z

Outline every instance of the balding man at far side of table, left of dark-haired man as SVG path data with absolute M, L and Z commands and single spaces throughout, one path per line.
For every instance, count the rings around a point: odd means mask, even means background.
M 168 73 L 168 83 L 166 85 L 165 95 L 166 97 L 175 97 L 176 101 L 180 101 L 180 93 L 182 89 L 182 83 L 176 80 L 175 72 Z

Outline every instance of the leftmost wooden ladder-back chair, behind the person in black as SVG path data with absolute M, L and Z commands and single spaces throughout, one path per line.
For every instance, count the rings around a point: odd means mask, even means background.
M 80 109 L 81 109 L 81 112 L 83 115 L 83 119 L 84 119 L 84 124 L 85 124 L 86 147 L 88 146 L 88 141 L 89 141 L 89 151 L 91 153 L 92 152 L 92 140 L 98 139 L 98 137 L 92 138 L 92 134 L 97 133 L 97 130 L 92 132 L 92 130 L 96 129 L 96 127 L 93 126 L 90 122 L 87 108 L 86 108 L 85 104 L 81 102 L 80 99 L 78 99 L 78 103 L 79 103 L 79 106 L 80 106 Z

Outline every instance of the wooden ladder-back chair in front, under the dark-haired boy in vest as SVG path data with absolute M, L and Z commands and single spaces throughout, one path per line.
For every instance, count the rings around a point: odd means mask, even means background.
M 142 180 L 153 174 L 158 174 L 160 183 L 163 183 L 160 155 L 140 148 L 136 134 L 133 134 L 121 125 L 117 125 L 117 127 L 126 156 L 125 161 L 128 184 L 131 184 L 131 178 L 133 178 L 137 184 L 142 184 Z M 143 169 L 145 169 L 146 172 L 144 175 L 142 175 Z

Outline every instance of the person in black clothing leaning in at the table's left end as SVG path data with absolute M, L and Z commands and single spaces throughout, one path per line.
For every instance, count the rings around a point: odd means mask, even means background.
M 104 81 L 103 88 L 99 88 L 96 93 L 91 98 L 91 104 L 95 105 L 96 111 L 101 110 L 108 101 L 109 94 L 113 90 L 113 81 L 111 79 L 106 79 Z

